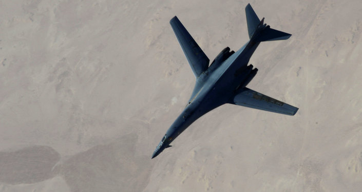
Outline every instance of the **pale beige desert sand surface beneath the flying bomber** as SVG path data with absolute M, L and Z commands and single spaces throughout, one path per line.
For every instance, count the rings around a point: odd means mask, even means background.
M 247 1 L 0 1 L 0 191 L 360 191 L 362 1 L 251 1 L 274 29 L 249 88 L 157 158 L 195 77 L 177 15 L 212 60 L 247 40 Z

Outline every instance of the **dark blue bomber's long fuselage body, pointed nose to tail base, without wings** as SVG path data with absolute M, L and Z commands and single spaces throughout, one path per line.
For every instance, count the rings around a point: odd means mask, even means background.
M 252 72 L 253 66 L 247 66 L 247 63 L 259 44 L 260 42 L 251 39 L 226 60 L 212 63 L 219 66 L 212 68 L 211 65 L 197 78 L 195 89 L 185 109 L 169 127 L 152 158 L 167 148 L 190 124 L 207 112 L 227 103 L 237 89 L 244 88 L 250 82 L 257 69 Z

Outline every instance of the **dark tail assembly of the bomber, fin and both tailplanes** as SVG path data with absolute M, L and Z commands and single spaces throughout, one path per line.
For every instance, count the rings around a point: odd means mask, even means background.
M 284 40 L 292 36 L 289 33 L 278 31 L 266 26 L 264 18 L 259 20 L 255 11 L 250 4 L 245 7 L 247 31 L 249 32 L 249 38 L 254 38 L 254 41 L 270 41 L 270 40 Z M 258 33 L 258 34 L 254 34 Z

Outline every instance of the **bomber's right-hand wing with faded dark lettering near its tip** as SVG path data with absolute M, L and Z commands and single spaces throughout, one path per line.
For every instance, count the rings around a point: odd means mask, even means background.
M 298 111 L 298 108 L 295 106 L 278 101 L 249 88 L 241 89 L 230 103 L 285 115 L 295 115 Z

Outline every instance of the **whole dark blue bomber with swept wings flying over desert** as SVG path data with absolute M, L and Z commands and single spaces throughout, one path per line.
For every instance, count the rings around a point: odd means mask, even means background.
M 209 66 L 209 59 L 175 16 L 170 20 L 172 29 L 196 77 L 194 91 L 181 115 L 169 127 L 156 147 L 151 159 L 158 156 L 190 124 L 218 106 L 231 103 L 258 110 L 295 115 L 298 108 L 278 101 L 245 86 L 254 78 L 258 69 L 247 65 L 262 41 L 284 40 L 291 34 L 264 24 L 250 4 L 245 7 L 247 31 L 250 40 L 237 52 L 223 49 Z

